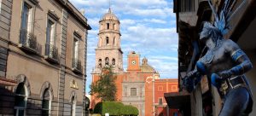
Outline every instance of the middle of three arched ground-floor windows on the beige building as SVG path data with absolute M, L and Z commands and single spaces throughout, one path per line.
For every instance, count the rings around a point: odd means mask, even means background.
M 42 101 L 42 115 L 49 116 L 50 115 L 50 105 L 51 105 L 51 95 L 49 93 L 49 89 L 44 90 L 43 101 Z

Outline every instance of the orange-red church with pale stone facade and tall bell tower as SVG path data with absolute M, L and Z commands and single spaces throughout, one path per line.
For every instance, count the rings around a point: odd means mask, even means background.
M 119 19 L 111 9 L 99 21 L 98 44 L 96 46 L 96 67 L 92 74 L 92 83 L 99 79 L 102 67 L 113 66 L 117 76 L 117 101 L 133 105 L 139 110 L 140 116 L 173 114 L 177 110 L 167 107 L 165 92 L 178 90 L 177 79 L 160 79 L 160 74 L 148 64 L 148 59 L 131 51 L 128 54 L 127 70 L 123 68 L 123 52 L 121 50 L 121 34 Z M 100 102 L 91 96 L 90 107 Z

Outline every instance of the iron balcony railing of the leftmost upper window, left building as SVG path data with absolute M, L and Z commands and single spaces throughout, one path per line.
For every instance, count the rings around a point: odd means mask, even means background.
M 37 43 L 37 37 L 32 32 L 27 32 L 26 29 L 20 30 L 20 44 L 18 46 L 20 49 L 34 54 L 38 54 L 41 47 Z

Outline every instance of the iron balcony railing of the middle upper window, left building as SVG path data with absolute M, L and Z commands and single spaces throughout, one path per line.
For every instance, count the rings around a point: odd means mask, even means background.
M 58 49 L 54 44 L 45 44 L 45 55 L 44 59 L 54 63 L 59 62 Z

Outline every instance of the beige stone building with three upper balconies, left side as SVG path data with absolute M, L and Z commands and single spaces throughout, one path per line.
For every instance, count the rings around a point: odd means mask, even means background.
M 68 0 L 1 0 L 0 14 L 0 115 L 84 115 L 84 14 Z

